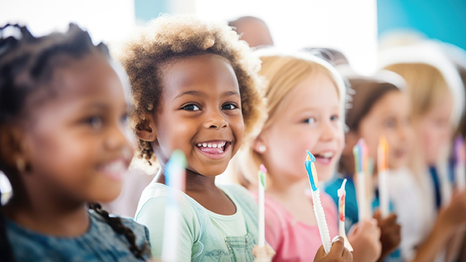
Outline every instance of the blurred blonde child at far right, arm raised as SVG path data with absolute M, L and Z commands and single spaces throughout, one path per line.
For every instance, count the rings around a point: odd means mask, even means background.
M 437 256 L 440 261 L 447 261 L 443 249 L 452 246 L 450 239 L 455 232 L 461 232 L 459 229 L 466 222 L 466 192 L 452 197 L 447 171 L 438 167 L 446 162 L 443 149 L 450 146 L 452 130 L 463 113 L 461 78 L 429 41 L 382 52 L 381 66 L 403 76 L 407 83 L 411 122 L 416 133 L 408 163 L 423 199 L 418 203 L 419 209 L 423 211 L 422 217 L 428 219 L 414 221 L 423 223 L 424 234 L 417 243 L 412 243 L 417 249 L 406 259 L 426 261 Z

